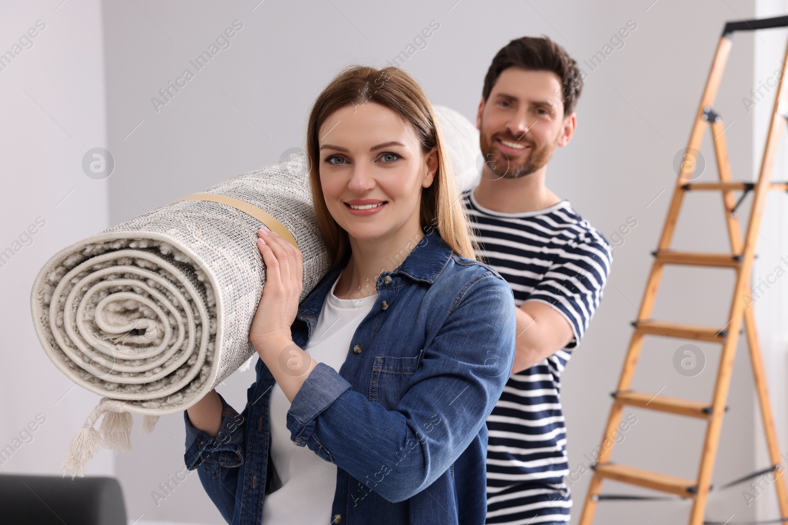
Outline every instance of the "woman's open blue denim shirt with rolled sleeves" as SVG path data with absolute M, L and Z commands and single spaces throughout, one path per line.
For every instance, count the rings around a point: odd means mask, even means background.
M 291 331 L 300 348 L 348 258 L 299 305 Z M 293 397 L 292 442 L 336 464 L 330 523 L 482 525 L 485 421 L 515 357 L 511 287 L 430 230 L 402 264 L 378 276 L 376 289 L 340 371 L 318 363 Z M 217 436 L 193 427 L 184 411 L 186 466 L 202 465 L 200 482 L 232 525 L 262 523 L 272 478 L 274 379 L 262 360 L 255 371 L 243 412 L 219 396 Z M 299 505 L 310 505 L 310 494 Z

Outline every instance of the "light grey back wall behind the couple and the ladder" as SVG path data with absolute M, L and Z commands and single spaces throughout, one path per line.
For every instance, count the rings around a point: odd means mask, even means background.
M 608 392 L 615 388 L 630 336 L 628 321 L 637 315 L 651 263 L 649 251 L 656 246 L 675 182 L 673 157 L 686 146 L 719 32 L 725 20 L 752 17 L 753 6 L 670 0 L 653 5 L 573 2 L 571 7 L 556 2 L 496 2 L 494 8 L 468 0 L 399 2 L 396 7 L 314 2 L 307 16 L 296 4 L 256 4 L 197 8 L 113 2 L 106 6 L 110 145 L 122 160 L 110 186 L 111 220 L 128 219 L 265 165 L 290 147 L 303 146 L 310 104 L 337 68 L 359 61 L 382 65 L 404 50 L 430 20 L 437 20 L 440 29 L 426 49 L 418 50 L 403 67 L 422 83 L 433 102 L 471 119 L 496 50 L 520 35 L 550 35 L 581 62 L 589 77 L 578 105 L 578 133 L 570 146 L 556 153 L 548 169 L 548 185 L 608 237 L 628 217 L 637 220 L 624 244 L 614 250 L 602 307 L 565 373 L 571 468 L 577 468 L 586 461 L 583 454 L 599 446 Z M 236 19 L 243 30 L 232 39 L 232 46 L 221 50 L 157 112 L 151 98 Z M 591 72 L 583 61 L 601 50 L 627 20 L 634 20 L 637 29 L 623 49 L 615 50 Z M 731 161 L 742 176 L 749 176 L 752 165 L 752 125 L 740 102 L 753 77 L 752 56 L 752 35 L 737 36 L 718 104 L 727 122 L 735 120 L 727 136 Z M 704 148 L 707 179 L 714 168 L 710 143 L 707 139 Z M 719 200 L 701 195 L 687 203 L 674 246 L 724 250 L 727 238 Z M 663 283 L 654 318 L 725 323 L 724 303 L 730 300 L 733 284 L 730 274 L 671 269 Z M 689 296 L 680 295 L 685 291 Z M 701 345 L 708 364 L 700 375 L 687 378 L 671 364 L 682 343 L 649 340 L 636 388 L 710 399 L 719 349 Z M 716 468 L 716 482 L 753 469 L 749 423 L 753 394 L 744 357 L 740 353 L 737 360 L 730 393 L 735 407 L 728 412 L 720 444 L 724 460 Z M 252 380 L 248 372 L 234 375 L 220 390 L 240 409 Z M 614 459 L 693 477 L 704 425 L 645 411 L 636 414 L 638 423 L 626 434 Z M 133 511 L 130 516 L 145 512 L 145 519 L 219 523 L 196 476 L 154 506 L 151 490 L 180 468 L 184 445 L 180 416 L 164 422 L 167 430 L 160 429 L 154 439 L 138 439 L 136 453 L 117 458 L 117 472 L 125 481 Z M 145 468 L 140 468 L 142 464 Z M 588 481 L 585 475 L 574 484 L 575 516 Z M 608 489 L 616 492 L 619 487 L 608 483 Z M 723 520 L 733 512 L 751 516 L 738 500 L 716 503 L 710 516 Z M 686 503 L 605 504 L 597 523 L 649 523 L 643 512 L 656 523 L 680 523 L 688 509 Z

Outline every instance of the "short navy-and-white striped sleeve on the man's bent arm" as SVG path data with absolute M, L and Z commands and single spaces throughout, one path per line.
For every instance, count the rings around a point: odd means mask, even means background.
M 587 231 L 559 251 L 526 298 L 551 305 L 569 321 L 574 337 L 567 349 L 578 346 L 585 334 L 602 300 L 612 262 L 608 241 L 597 231 Z

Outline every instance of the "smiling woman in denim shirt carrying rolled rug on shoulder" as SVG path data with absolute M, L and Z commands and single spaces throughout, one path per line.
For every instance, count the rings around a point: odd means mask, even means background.
M 184 459 L 228 523 L 484 523 L 515 305 L 474 259 L 435 122 L 394 67 L 348 68 L 314 103 L 333 268 L 299 305 L 301 253 L 261 228 L 257 381 L 240 415 L 215 390 L 184 413 Z

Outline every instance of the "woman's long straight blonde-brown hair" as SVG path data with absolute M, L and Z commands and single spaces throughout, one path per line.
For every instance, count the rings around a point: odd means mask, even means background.
M 477 246 L 472 240 L 463 202 L 459 199 L 452 164 L 444 147 L 443 133 L 426 94 L 413 77 L 400 68 L 388 66 L 376 69 L 351 65 L 318 95 L 307 127 L 307 158 L 314 211 L 329 249 L 332 268 L 344 260 L 350 250 L 350 242 L 348 232 L 336 224 L 325 204 L 320 183 L 318 131 L 337 109 L 365 102 L 385 105 L 410 123 L 421 139 L 423 153 L 429 153 L 437 146 L 437 172 L 432 185 L 422 189 L 420 226 L 422 230 L 434 227 L 455 253 L 475 260 L 474 248 Z

